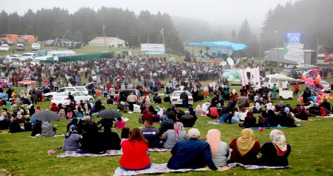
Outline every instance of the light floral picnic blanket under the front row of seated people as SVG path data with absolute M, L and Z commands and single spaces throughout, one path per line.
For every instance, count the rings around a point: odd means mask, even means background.
M 285 167 L 279 167 L 279 166 L 261 166 L 261 165 L 243 165 L 241 163 L 230 163 L 227 164 L 222 168 L 223 171 L 226 171 L 230 168 L 236 167 L 237 165 L 240 165 L 244 167 L 245 169 L 281 169 L 281 168 L 288 168 L 290 166 Z M 208 167 L 203 168 L 197 168 L 197 169 L 188 169 L 188 168 L 182 168 L 182 169 L 170 169 L 167 167 L 167 163 L 163 164 L 151 164 L 151 167 L 144 170 L 130 170 L 126 171 L 121 169 L 120 167 L 117 167 L 114 176 L 121 176 L 121 175 L 139 175 L 139 174 L 149 174 L 149 173 L 167 173 L 167 172 L 187 172 L 187 171 L 206 171 L 210 170 Z

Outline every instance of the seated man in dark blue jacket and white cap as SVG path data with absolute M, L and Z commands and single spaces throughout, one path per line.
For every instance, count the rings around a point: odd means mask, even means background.
M 199 140 L 200 132 L 192 128 L 188 132 L 189 140 L 178 141 L 171 150 L 171 158 L 168 162 L 168 168 L 201 168 L 206 165 L 217 170 L 211 158 L 210 146 L 206 141 Z

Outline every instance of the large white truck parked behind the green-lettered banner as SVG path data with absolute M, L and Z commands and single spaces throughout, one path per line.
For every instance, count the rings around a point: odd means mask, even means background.
M 314 50 L 304 50 L 304 64 L 315 65 L 316 64 L 317 52 Z M 278 60 L 279 58 L 279 60 Z M 285 59 L 284 48 L 272 48 L 269 51 L 264 52 L 263 62 L 265 65 L 278 65 L 287 67 L 289 64 L 298 65 L 296 61 Z

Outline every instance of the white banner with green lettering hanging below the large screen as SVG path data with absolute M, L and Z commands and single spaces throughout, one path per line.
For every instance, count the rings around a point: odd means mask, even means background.
M 287 60 L 304 63 L 304 44 L 288 44 L 284 43 L 284 57 Z

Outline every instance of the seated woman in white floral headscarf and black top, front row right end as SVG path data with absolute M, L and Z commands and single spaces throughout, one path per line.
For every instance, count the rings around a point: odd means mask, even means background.
M 288 166 L 288 156 L 291 147 L 286 143 L 286 137 L 283 131 L 272 130 L 269 134 L 272 142 L 266 142 L 262 145 L 259 158 L 259 165 L 265 166 Z

